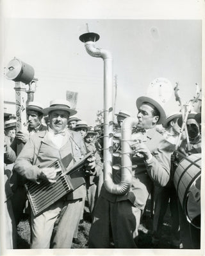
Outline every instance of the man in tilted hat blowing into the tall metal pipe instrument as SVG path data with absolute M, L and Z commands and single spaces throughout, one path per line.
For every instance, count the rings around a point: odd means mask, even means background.
M 137 128 L 141 131 L 132 137 L 131 188 L 126 194 L 116 195 L 102 186 L 90 228 L 90 248 L 109 248 L 111 234 L 115 248 L 137 248 L 140 217 L 152 186 L 165 186 L 170 178 L 173 147 L 156 132 L 156 124 L 166 118 L 165 111 L 156 100 L 144 96 L 136 100 L 136 106 Z M 120 179 L 120 171 L 113 170 L 114 183 L 119 183 Z

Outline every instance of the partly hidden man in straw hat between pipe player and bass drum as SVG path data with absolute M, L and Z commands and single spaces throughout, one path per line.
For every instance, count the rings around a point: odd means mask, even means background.
M 179 137 L 180 127 L 177 120 L 181 116 L 181 113 L 172 113 L 163 123 L 165 128 L 164 138 L 168 142 L 176 145 L 177 138 Z M 177 205 L 177 194 L 173 183 L 174 169 L 170 169 L 170 180 L 165 187 L 154 187 L 154 217 L 153 217 L 153 236 L 152 244 L 154 248 L 159 248 L 161 239 L 161 230 L 163 226 L 163 218 L 167 212 L 168 203 L 170 205 L 171 212 L 171 232 L 172 239 L 170 241 L 170 246 L 172 248 L 179 248 L 180 245 L 180 234 L 179 234 L 179 212 Z

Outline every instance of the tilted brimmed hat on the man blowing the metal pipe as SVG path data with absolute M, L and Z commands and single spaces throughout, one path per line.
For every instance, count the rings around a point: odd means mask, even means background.
M 160 102 L 158 102 L 157 100 L 154 100 L 153 98 L 147 97 L 147 96 L 141 96 L 141 97 L 137 98 L 137 100 L 136 100 L 136 107 L 139 109 L 143 102 L 148 102 L 148 103 L 154 105 L 154 107 L 156 107 L 156 109 L 158 109 L 158 111 L 160 112 L 160 118 L 157 122 L 158 124 L 165 122 L 166 114 L 165 114 L 163 106 L 162 106 L 162 104 L 160 104 Z

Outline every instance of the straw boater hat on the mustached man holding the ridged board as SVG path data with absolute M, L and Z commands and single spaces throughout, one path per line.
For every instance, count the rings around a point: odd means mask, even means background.
M 53 110 L 64 110 L 70 113 L 70 116 L 73 116 L 77 113 L 76 110 L 70 109 L 70 102 L 68 100 L 51 100 L 50 107 L 44 109 L 44 114 L 48 114 Z

